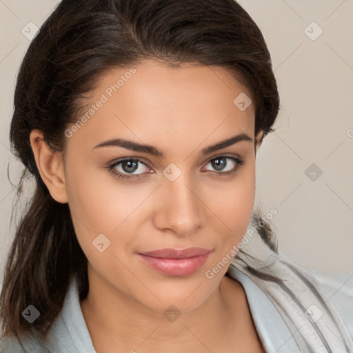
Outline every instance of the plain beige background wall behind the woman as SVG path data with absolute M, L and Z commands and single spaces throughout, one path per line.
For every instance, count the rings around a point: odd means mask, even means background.
M 277 130 L 256 162 L 256 197 L 264 214 L 278 210 L 272 222 L 283 254 L 307 268 L 353 273 L 353 1 L 239 2 L 263 31 L 281 94 Z M 21 171 L 8 139 L 14 82 L 30 43 L 21 30 L 40 27 L 57 3 L 0 0 L 0 283 L 14 234 L 8 172 L 16 183 Z M 305 174 L 312 163 L 314 181 Z

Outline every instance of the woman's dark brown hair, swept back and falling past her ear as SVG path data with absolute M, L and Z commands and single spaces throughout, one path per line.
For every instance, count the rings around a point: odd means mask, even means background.
M 0 296 L 3 336 L 31 333 L 45 340 L 73 276 L 80 299 L 88 294 L 87 259 L 69 205 L 52 199 L 41 180 L 31 130 L 41 130 L 54 152 L 65 152 L 64 131 L 77 121 L 84 97 L 103 72 L 143 59 L 228 69 L 251 92 L 255 134 L 273 131 L 279 93 L 270 53 L 258 26 L 236 1 L 61 1 L 30 43 L 14 92 L 10 143 L 25 166 L 17 195 L 27 177 L 34 176 L 35 190 L 6 263 Z M 276 251 L 270 228 L 261 235 Z M 40 312 L 32 324 L 21 316 L 29 304 Z

